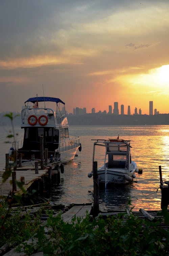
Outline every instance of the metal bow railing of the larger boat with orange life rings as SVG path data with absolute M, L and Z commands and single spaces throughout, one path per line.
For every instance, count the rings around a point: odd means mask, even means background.
M 70 136 L 72 137 L 70 137 L 69 140 L 59 143 L 59 152 L 71 150 L 79 146 L 80 137 L 76 135 L 70 135 Z

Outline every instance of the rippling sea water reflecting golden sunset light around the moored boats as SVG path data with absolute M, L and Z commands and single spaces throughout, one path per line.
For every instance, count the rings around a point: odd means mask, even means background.
M 5 153 L 10 144 L 4 143 L 9 126 L 1 126 L 0 166 L 5 166 Z M 17 140 L 23 138 L 20 127 L 15 128 Z M 51 200 L 69 205 L 70 203 L 93 202 L 93 178 L 88 178 L 92 171 L 92 139 L 120 138 L 131 140 L 131 157 L 143 174 L 131 184 L 102 189 L 99 192 L 101 211 L 125 209 L 131 200 L 134 210 L 160 210 L 161 190 L 159 165 L 162 166 L 163 180 L 169 180 L 169 125 L 152 126 L 71 126 L 70 134 L 81 137 L 82 150 L 72 163 L 64 166 L 61 183 L 52 187 Z

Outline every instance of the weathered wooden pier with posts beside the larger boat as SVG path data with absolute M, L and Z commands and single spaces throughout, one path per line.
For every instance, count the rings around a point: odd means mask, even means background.
M 57 170 L 58 169 L 58 170 Z M 37 169 L 37 166 L 25 165 L 17 168 L 16 171 L 11 170 L 11 176 L 2 182 L 3 171 L 0 171 L 0 196 L 1 198 L 12 197 L 15 195 L 22 195 L 25 191 L 31 192 L 35 189 L 43 195 L 43 192 L 50 194 L 51 189 L 51 176 L 53 175 L 54 181 L 60 181 L 59 164 L 52 163 L 46 166 L 43 170 Z M 18 186 L 18 182 L 22 183 L 23 190 Z

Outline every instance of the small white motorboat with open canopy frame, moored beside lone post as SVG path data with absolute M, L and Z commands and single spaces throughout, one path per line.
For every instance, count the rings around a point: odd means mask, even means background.
M 93 162 L 96 161 L 95 156 L 99 156 L 97 150 L 102 152 L 100 156 L 103 156 L 103 150 L 105 151 L 104 163 L 97 169 L 99 185 L 105 184 L 106 187 L 107 184 L 126 184 L 136 178 L 138 169 L 136 163 L 131 161 L 130 147 L 130 140 L 123 139 L 94 142 Z M 93 171 L 88 177 L 92 174 Z

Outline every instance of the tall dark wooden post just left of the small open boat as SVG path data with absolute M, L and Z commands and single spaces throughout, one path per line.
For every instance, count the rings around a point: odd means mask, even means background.
M 97 162 L 93 162 L 93 185 L 94 185 L 94 203 L 93 203 L 93 217 L 99 213 L 99 185 L 97 174 Z

